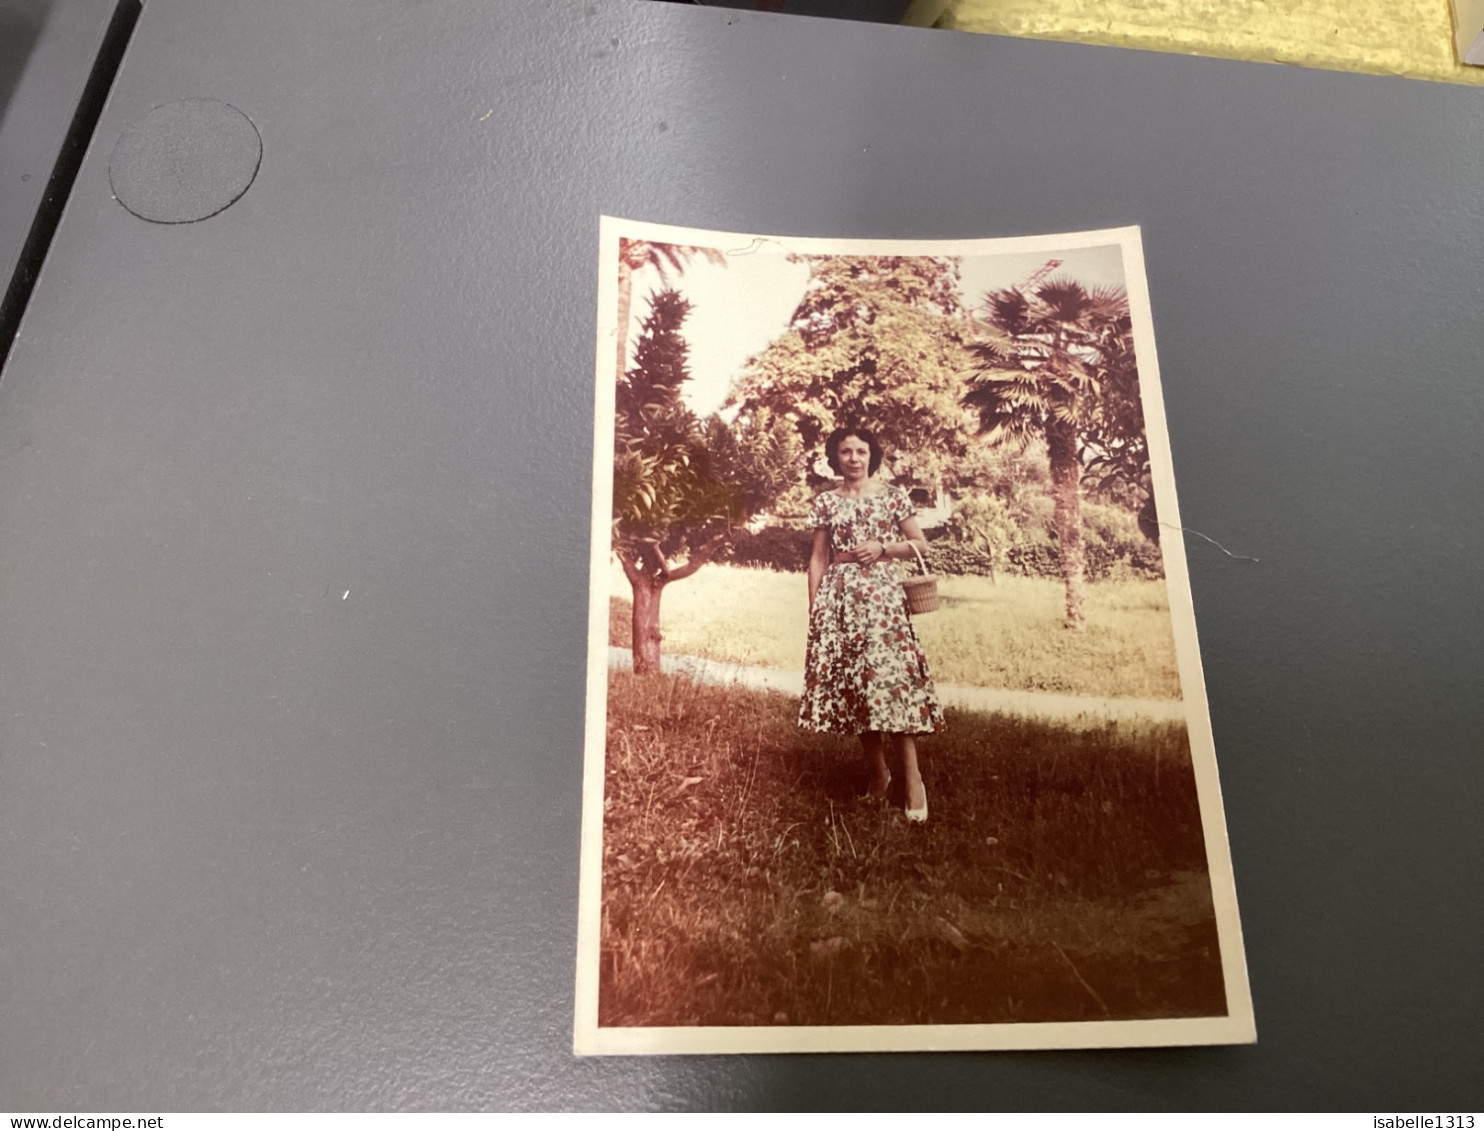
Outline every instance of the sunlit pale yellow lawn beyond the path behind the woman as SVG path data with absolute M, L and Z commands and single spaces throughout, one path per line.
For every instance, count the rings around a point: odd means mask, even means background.
M 933 678 L 974 687 L 1178 699 L 1163 582 L 1088 585 L 1086 632 L 1061 628 L 1061 582 L 942 577 L 942 607 L 916 619 Z M 628 646 L 628 582 L 616 574 L 610 643 Z M 665 589 L 665 650 L 803 671 L 809 629 L 801 573 L 706 566 Z

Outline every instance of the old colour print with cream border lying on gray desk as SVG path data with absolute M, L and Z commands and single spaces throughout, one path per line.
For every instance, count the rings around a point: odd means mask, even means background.
M 576 1051 L 1254 1039 L 1137 229 L 604 218 Z

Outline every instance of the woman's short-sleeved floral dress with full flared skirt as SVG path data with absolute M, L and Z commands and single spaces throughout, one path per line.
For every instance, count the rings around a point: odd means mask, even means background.
M 859 497 L 824 491 L 809 522 L 830 528 L 838 554 L 870 539 L 901 542 L 902 519 L 916 514 L 907 491 L 887 485 Z M 926 735 L 942 726 L 896 563 L 835 561 L 825 570 L 809 617 L 798 726 L 833 735 Z

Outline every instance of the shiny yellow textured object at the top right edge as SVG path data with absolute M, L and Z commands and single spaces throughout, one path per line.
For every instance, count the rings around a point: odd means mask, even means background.
M 1448 0 L 953 0 L 938 27 L 1484 85 Z

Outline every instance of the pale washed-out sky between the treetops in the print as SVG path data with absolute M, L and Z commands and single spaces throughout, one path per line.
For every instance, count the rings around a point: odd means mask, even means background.
M 729 249 L 726 257 L 726 267 L 696 260 L 683 276 L 669 276 L 692 304 L 681 330 L 690 344 L 692 376 L 683 395 L 690 410 L 702 417 L 721 408 L 746 359 L 761 353 L 784 332 L 809 282 L 809 266 L 788 263 L 787 251 L 775 243 Z M 965 255 L 965 301 L 978 307 L 985 292 L 1024 282 L 1051 258 L 1063 261 L 1054 275 L 1071 276 L 1085 286 L 1123 285 L 1122 254 L 1113 245 Z M 634 276 L 631 352 L 649 309 L 646 298 L 662 286 L 653 267 Z

